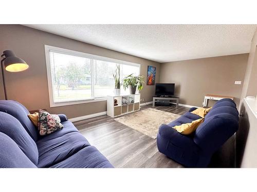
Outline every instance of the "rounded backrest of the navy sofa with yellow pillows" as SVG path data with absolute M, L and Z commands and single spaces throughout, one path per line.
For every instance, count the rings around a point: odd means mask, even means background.
M 238 111 L 233 103 L 232 100 L 215 103 L 205 121 L 198 126 L 194 142 L 203 151 L 215 152 L 238 130 Z

